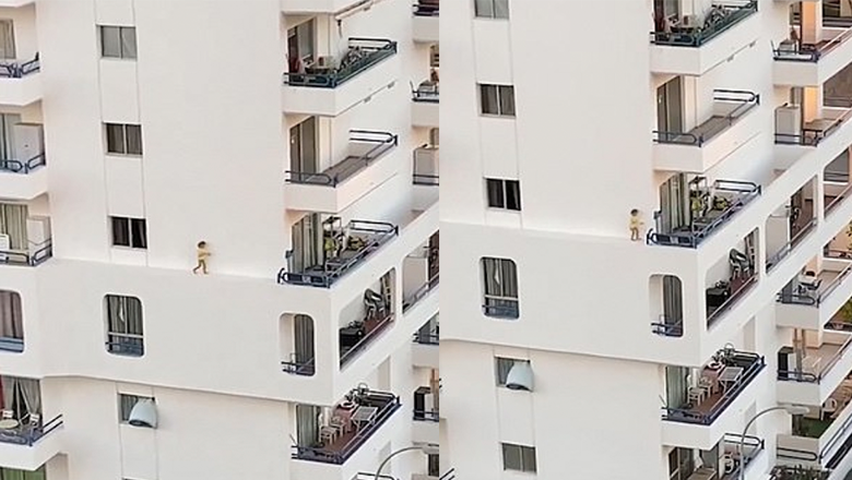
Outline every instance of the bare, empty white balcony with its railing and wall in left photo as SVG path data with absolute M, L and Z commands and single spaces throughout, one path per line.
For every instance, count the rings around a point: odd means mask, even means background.
M 399 166 L 387 160 L 399 137 L 388 132 L 350 131 L 347 155 L 322 172 L 287 170 L 284 199 L 289 209 L 339 213 L 390 178 Z

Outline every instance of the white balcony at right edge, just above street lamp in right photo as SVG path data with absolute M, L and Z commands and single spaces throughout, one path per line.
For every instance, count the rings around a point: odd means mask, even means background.
M 810 332 L 804 332 L 807 335 Z M 816 333 L 810 333 L 816 337 Z M 806 336 L 806 343 L 810 338 Z M 825 332 L 823 337 L 794 355 L 793 347 L 779 353 L 788 364 L 778 370 L 778 401 L 796 405 L 821 405 L 852 371 L 852 335 Z M 801 358 L 801 364 L 796 362 Z

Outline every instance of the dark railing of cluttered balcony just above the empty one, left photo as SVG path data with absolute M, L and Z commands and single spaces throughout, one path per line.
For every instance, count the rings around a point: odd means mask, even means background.
M 306 72 L 284 74 L 284 83 L 292 86 L 336 88 L 382 60 L 397 55 L 397 43 L 387 38 L 350 38 L 348 50 L 336 65 L 309 67 Z

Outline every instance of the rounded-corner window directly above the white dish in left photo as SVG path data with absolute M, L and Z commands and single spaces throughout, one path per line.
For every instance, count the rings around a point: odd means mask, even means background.
M 135 297 L 107 295 L 107 351 L 115 355 L 142 357 L 145 353 L 142 331 L 142 301 Z

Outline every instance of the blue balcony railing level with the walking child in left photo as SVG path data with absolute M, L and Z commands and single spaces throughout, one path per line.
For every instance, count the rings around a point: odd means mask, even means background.
M 340 254 L 328 257 L 319 265 L 304 268 L 301 272 L 287 272 L 281 268 L 277 283 L 330 288 L 336 280 L 358 266 L 383 244 L 399 236 L 399 227 L 386 221 L 352 220 L 346 227 L 347 238 L 357 237 L 362 240 L 357 249 L 343 250 Z M 293 251 L 287 252 L 292 259 Z

